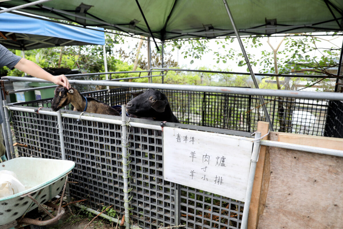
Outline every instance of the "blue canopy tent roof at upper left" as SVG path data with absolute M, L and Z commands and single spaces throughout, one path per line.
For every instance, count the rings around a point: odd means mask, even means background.
M 100 28 L 100 30 L 104 29 Z M 104 45 L 105 33 L 27 16 L 0 13 L 0 44 L 20 50 L 72 45 Z

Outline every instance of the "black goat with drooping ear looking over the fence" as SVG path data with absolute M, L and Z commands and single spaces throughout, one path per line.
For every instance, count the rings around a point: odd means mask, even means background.
M 150 117 L 155 121 L 179 123 L 170 109 L 167 96 L 162 92 L 149 89 L 131 94 L 136 97 L 126 104 L 126 111 L 129 114 L 143 118 Z

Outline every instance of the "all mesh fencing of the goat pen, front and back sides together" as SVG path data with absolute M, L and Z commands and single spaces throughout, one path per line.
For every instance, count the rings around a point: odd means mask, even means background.
M 113 106 L 127 103 L 132 98 L 130 92 L 137 90 L 116 88 L 83 94 Z M 250 136 L 251 131 L 256 130 L 257 121 L 264 120 L 259 99 L 254 95 L 160 90 L 166 93 L 172 110 L 184 123 L 178 124 L 182 128 Z M 264 98 L 274 126 L 279 130 L 323 134 L 327 100 Z M 16 105 L 32 109 L 50 107 L 51 99 Z M 72 110 L 72 106 L 66 109 Z M 280 111 L 283 113 L 280 114 Z M 313 116 L 315 122 L 311 123 Z M 107 118 L 119 120 L 115 116 Z M 303 119 L 307 121 L 302 122 Z M 56 116 L 13 111 L 12 122 L 17 142 L 27 145 L 18 148 L 20 156 L 61 158 Z M 158 125 L 153 121 L 144 122 Z M 114 204 L 117 214 L 122 216 L 121 126 L 85 120 L 77 123 L 74 118 L 63 117 L 63 137 L 67 159 L 76 163 L 71 180 L 78 183 L 71 184 L 71 196 L 75 199 L 87 198 L 88 206 L 93 209 Z M 187 228 L 240 228 L 243 202 L 163 179 L 162 131 L 132 127 L 129 144 L 133 224 L 141 228 L 169 227 L 179 223 Z

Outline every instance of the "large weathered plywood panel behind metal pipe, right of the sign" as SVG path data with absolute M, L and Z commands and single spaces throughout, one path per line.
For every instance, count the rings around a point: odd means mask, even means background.
M 271 133 L 271 140 L 343 148 L 342 139 Z M 286 139 L 286 140 L 285 140 Z M 341 145 L 341 147 L 340 147 Z M 259 229 L 342 229 L 343 158 L 269 147 L 270 180 Z

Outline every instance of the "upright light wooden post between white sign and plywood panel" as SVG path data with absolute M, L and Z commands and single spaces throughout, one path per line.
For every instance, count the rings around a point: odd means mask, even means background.
M 269 130 L 268 122 L 263 122 L 263 121 L 258 122 L 257 131 L 261 132 L 261 136 L 267 134 L 268 130 Z M 263 139 L 268 140 L 268 136 L 265 136 Z M 257 227 L 258 218 L 263 213 L 263 209 L 264 209 L 265 195 L 264 195 L 264 198 L 261 198 L 260 195 L 267 193 L 266 191 L 268 190 L 268 182 L 267 182 L 267 186 L 265 186 L 265 182 L 264 184 L 262 184 L 266 152 L 267 152 L 267 147 L 261 146 L 259 159 L 256 164 L 254 184 L 252 186 L 251 202 L 250 202 L 249 217 L 248 217 L 249 229 L 255 229 Z M 269 162 L 269 156 L 267 158 Z

